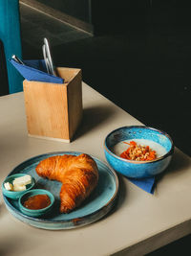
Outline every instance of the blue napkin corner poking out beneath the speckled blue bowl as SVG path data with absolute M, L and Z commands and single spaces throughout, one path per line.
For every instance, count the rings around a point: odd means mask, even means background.
M 144 190 L 150 194 L 154 194 L 155 177 L 145 177 L 145 178 L 130 178 L 130 177 L 128 177 L 128 179 L 132 183 L 137 185 L 139 188 L 141 188 L 142 190 Z

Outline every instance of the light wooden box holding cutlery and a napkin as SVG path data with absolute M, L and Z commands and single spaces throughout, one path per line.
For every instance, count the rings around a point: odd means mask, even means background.
M 71 142 L 82 117 L 81 70 L 56 69 L 64 83 L 23 81 L 29 135 Z

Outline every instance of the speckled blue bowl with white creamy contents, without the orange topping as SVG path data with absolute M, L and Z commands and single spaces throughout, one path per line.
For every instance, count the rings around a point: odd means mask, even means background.
M 150 146 L 157 152 L 157 158 L 151 161 L 121 158 L 119 155 L 124 151 L 125 144 L 123 142 L 131 140 L 141 142 L 138 143 L 140 145 Z M 145 126 L 117 128 L 110 132 L 104 141 L 104 153 L 110 166 L 118 173 L 133 178 L 159 175 L 169 165 L 173 151 L 173 141 L 166 132 Z

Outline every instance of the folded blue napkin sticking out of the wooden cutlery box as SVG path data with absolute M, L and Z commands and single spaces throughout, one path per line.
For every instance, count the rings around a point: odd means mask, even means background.
M 25 65 L 11 59 L 11 64 L 28 81 L 63 83 L 64 80 L 47 73 L 44 59 L 23 60 Z

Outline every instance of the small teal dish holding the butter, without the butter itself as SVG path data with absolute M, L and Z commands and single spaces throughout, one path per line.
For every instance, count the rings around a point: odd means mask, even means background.
M 2 183 L 2 192 L 3 192 L 3 195 L 8 197 L 8 198 L 11 198 L 11 199 L 18 199 L 20 198 L 24 193 L 26 193 L 27 191 L 31 190 L 33 188 L 33 186 L 35 185 L 35 180 L 34 178 L 32 177 L 32 183 L 27 185 L 27 189 L 24 190 L 24 191 L 10 191 L 10 190 L 7 190 L 5 187 L 4 187 L 4 184 L 6 182 L 10 182 L 12 183 L 14 178 L 16 177 L 20 177 L 20 176 L 24 176 L 26 174 L 17 174 L 17 175 L 10 175 L 10 176 L 7 176 L 6 179 L 4 180 L 4 182 Z

